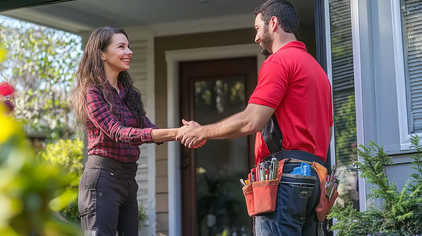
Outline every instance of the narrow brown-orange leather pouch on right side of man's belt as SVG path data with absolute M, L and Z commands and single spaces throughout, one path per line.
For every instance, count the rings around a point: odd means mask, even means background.
M 314 162 L 312 167 L 317 171 L 319 180 L 321 182 L 321 196 L 319 197 L 319 204 L 317 206 L 317 218 L 319 221 L 323 222 L 325 217 L 330 213 L 331 208 L 333 208 L 335 199 L 338 197 L 337 190 L 333 190 L 333 196 L 331 196 L 330 201 L 328 201 L 327 191 L 325 190 L 325 177 L 327 177 L 327 169 L 321 164 Z

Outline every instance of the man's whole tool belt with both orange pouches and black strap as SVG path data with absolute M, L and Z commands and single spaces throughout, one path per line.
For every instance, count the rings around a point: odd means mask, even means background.
M 264 166 L 263 168 L 267 169 L 266 166 L 272 159 L 273 161 L 278 161 L 278 167 L 274 173 L 269 171 L 268 177 L 265 177 L 266 172 L 264 171 L 262 171 L 263 175 L 262 172 L 261 174 L 257 173 L 260 171 L 258 168 L 261 168 L 262 164 L 258 164 L 257 168 L 251 170 L 252 174 L 249 174 L 249 181 L 252 182 L 248 181 L 246 186 L 242 188 L 249 216 L 254 217 L 258 214 L 273 212 L 276 209 L 278 185 L 283 176 L 289 175 L 289 173 L 283 174 L 284 164 L 289 161 L 293 161 L 309 164 L 318 174 L 321 185 L 321 194 L 316 212 L 318 220 L 323 222 L 325 217 L 330 213 L 335 199 L 338 197 L 338 192 L 333 188 L 333 193 L 328 194 L 331 198 L 328 199 L 325 181 L 327 177 L 327 169 L 324 167 L 322 159 L 301 150 L 283 150 L 281 147 L 283 137 L 275 114 L 273 114 L 271 120 L 268 121 L 264 129 L 262 129 L 261 134 L 271 153 L 271 155 L 265 158 L 262 162 Z M 273 163 L 274 162 L 272 162 L 271 165 L 273 165 Z M 306 178 L 308 176 L 303 177 Z

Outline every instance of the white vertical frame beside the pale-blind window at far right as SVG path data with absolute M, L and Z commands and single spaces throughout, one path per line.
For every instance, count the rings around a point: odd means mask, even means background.
M 400 132 L 400 150 L 410 149 L 410 137 L 408 125 L 408 110 L 406 101 L 406 77 L 403 54 L 403 30 L 401 19 L 400 0 L 391 0 L 391 14 L 393 24 L 394 63 L 397 88 L 398 123 Z M 422 133 L 418 133 L 422 136 Z

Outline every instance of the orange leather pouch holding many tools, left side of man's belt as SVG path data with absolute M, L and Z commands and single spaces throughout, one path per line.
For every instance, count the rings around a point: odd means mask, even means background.
M 283 174 L 284 163 L 288 160 L 283 159 L 279 161 L 275 180 L 252 182 L 242 188 L 249 216 L 254 217 L 258 214 L 276 210 L 277 188 Z

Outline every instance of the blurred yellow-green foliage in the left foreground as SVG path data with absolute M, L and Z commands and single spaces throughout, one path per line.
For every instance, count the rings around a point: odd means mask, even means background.
M 75 176 L 58 164 L 39 162 L 21 129 L 0 103 L 0 235 L 78 236 L 78 225 L 59 220 L 75 194 Z

